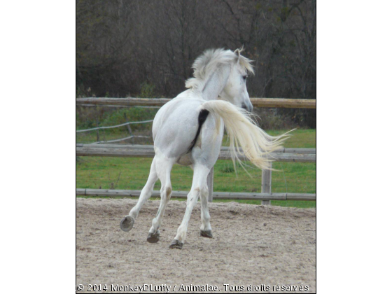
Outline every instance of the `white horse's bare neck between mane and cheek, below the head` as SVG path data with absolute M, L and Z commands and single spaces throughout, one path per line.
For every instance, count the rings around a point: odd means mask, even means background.
M 225 88 L 230 76 L 231 65 L 221 65 L 211 74 L 207 83 L 204 84 L 202 96 L 204 100 L 216 100 Z

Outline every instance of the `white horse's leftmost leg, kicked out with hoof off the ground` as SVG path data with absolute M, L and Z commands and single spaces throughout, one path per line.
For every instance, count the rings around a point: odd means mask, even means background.
M 143 207 L 144 203 L 151 197 L 153 194 L 153 188 L 155 186 L 155 182 L 158 180 L 158 175 L 155 169 L 155 158 L 153 159 L 153 163 L 151 164 L 150 175 L 148 176 L 148 180 L 146 186 L 144 186 L 143 190 L 141 190 L 139 201 L 132 208 L 130 214 L 125 216 L 120 223 L 120 228 L 124 232 L 130 232 L 134 226 L 134 222 L 139 214 L 141 207 Z

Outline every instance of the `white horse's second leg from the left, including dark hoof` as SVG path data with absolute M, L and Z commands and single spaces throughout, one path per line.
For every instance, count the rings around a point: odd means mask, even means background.
M 166 158 L 164 156 L 158 156 L 156 161 L 156 169 L 158 173 L 158 178 L 161 182 L 160 189 L 160 207 L 158 213 L 153 219 L 153 225 L 148 232 L 147 241 L 150 243 L 156 243 L 160 239 L 160 226 L 162 225 L 162 218 L 165 215 L 165 210 L 167 203 L 172 196 L 172 183 L 170 181 L 170 173 L 172 172 L 172 167 L 174 165 L 174 160 Z

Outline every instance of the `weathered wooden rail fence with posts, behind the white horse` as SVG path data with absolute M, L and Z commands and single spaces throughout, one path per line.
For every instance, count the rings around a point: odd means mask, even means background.
M 162 106 L 172 99 L 167 98 L 77 98 L 76 105 L 102 106 Z M 316 99 L 280 99 L 251 98 L 254 107 L 281 107 L 316 109 Z M 76 144 L 76 156 L 109 156 L 153 158 L 153 146 L 147 145 L 114 145 L 114 144 Z M 274 160 L 279 162 L 316 162 L 316 149 L 282 148 L 274 152 Z M 239 156 L 246 160 L 244 156 Z M 218 159 L 231 160 L 228 147 L 222 147 Z M 262 170 L 262 193 L 217 193 L 214 192 L 214 168 L 207 177 L 209 186 L 209 202 L 213 199 L 262 200 L 262 204 L 271 204 L 271 200 L 316 200 L 316 194 L 272 193 L 272 171 Z M 140 190 L 103 190 L 76 189 L 76 195 L 85 196 L 139 196 Z M 187 197 L 188 191 L 173 191 L 172 197 Z M 153 191 L 153 196 L 160 196 Z

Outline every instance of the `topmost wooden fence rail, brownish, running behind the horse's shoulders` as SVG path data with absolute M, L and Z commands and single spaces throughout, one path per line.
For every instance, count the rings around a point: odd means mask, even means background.
M 76 98 L 76 105 L 162 106 L 169 98 Z M 316 99 L 251 98 L 253 107 L 316 109 Z

